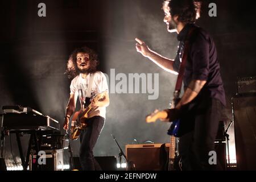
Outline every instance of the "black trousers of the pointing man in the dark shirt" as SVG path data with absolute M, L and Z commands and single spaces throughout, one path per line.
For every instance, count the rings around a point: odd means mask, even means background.
M 210 151 L 215 151 L 218 124 L 224 106 L 215 98 L 203 97 L 188 105 L 181 118 L 179 152 L 183 170 L 221 170 L 220 165 L 210 165 Z M 218 156 L 218 154 L 217 154 Z M 217 159 L 218 163 L 218 159 Z

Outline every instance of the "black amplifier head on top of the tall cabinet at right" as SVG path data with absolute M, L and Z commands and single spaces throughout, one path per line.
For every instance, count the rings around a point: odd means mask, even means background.
M 237 78 L 237 94 L 256 93 L 256 77 Z

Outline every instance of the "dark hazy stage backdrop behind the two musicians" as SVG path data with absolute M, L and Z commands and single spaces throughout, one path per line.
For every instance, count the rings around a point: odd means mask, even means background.
M 38 4 L 46 3 L 46 17 L 38 16 Z M 208 5 L 217 4 L 217 17 L 208 15 Z M 256 76 L 254 50 L 255 6 L 253 1 L 204 1 L 197 24 L 207 30 L 217 46 L 218 59 L 227 98 L 226 125 L 232 120 L 231 98 L 236 93 L 237 77 Z M 94 148 L 96 156 L 118 156 L 119 149 L 110 134 L 117 137 L 123 150 L 126 144 L 168 143 L 168 125 L 146 124 L 144 117 L 155 108 L 164 109 L 174 90 L 176 76 L 163 71 L 136 52 L 135 37 L 163 56 L 174 58 L 176 34 L 163 23 L 160 0 L 58 0 L 0 1 L 1 62 L 0 107 L 29 106 L 63 124 L 69 98 L 64 75 L 69 54 L 76 47 L 88 46 L 100 56 L 100 70 L 117 73 L 159 73 L 159 98 L 147 94 L 110 94 L 104 130 Z M 230 129 L 230 134 L 233 128 Z M 18 150 L 13 138 L 13 153 Z M 13 165 L 10 137 L 6 140 L 7 165 Z M 26 144 L 27 137 L 23 143 Z M 231 138 L 234 159 L 234 139 Z M 79 142 L 74 142 L 78 155 Z M 68 154 L 65 152 L 65 162 Z

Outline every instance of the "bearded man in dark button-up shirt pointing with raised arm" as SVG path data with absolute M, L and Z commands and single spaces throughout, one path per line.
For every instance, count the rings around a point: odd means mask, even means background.
M 163 121 L 173 121 L 179 115 L 179 152 L 184 170 L 216 169 L 216 165 L 209 163 L 212 156 L 209 152 L 214 151 L 221 110 L 226 104 L 213 39 L 195 25 L 200 16 L 200 5 L 199 1 L 193 0 L 168 0 L 163 3 L 168 31 L 178 34 L 179 48 L 174 60 L 159 55 L 142 40 L 136 39 L 138 52 L 171 73 L 179 72 L 185 40 L 189 42 L 183 97 L 175 109 L 159 111 Z

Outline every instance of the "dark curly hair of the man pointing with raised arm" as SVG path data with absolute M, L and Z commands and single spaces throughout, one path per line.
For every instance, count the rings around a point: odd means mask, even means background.
M 166 0 L 170 7 L 172 17 L 178 16 L 178 21 L 183 23 L 195 23 L 200 17 L 200 0 Z

